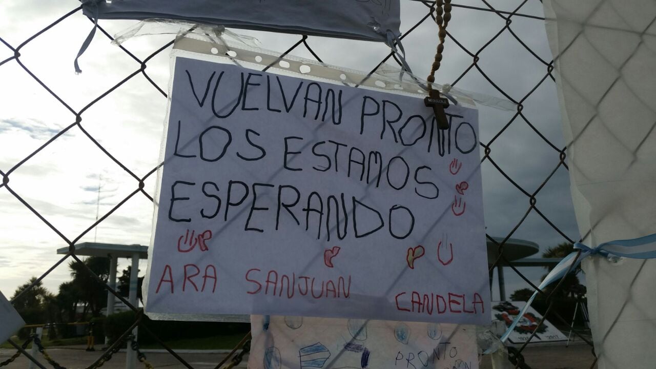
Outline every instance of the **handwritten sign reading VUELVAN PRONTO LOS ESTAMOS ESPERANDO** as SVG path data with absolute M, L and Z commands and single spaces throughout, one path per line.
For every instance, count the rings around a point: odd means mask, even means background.
M 476 110 L 176 58 L 146 311 L 489 323 Z

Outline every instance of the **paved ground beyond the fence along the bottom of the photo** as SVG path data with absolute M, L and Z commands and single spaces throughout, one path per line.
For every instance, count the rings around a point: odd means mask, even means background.
M 15 351 L 8 349 L 0 349 L 0 362 L 9 358 Z M 83 349 L 49 349 L 48 352 L 57 360 L 62 366 L 72 369 L 81 369 L 89 366 L 96 358 L 100 356 L 100 352 L 87 353 Z M 169 353 L 146 353 L 148 361 L 153 364 L 155 369 L 182 369 L 184 366 Z M 225 357 L 226 354 L 219 353 L 179 353 L 180 357 L 187 360 L 194 368 L 197 369 L 212 369 L 218 362 Z M 594 361 L 594 357 L 587 345 L 571 345 L 565 347 L 564 345 L 558 346 L 537 346 L 529 345 L 523 351 L 525 362 L 531 366 L 531 369 L 589 369 Z M 38 356 L 39 361 L 43 359 L 41 355 Z M 237 368 L 246 368 L 248 358 L 245 357 L 244 361 L 237 366 Z M 46 368 L 51 369 L 45 360 L 41 361 Z M 24 357 L 16 359 L 12 364 L 5 366 L 8 369 L 28 368 L 28 360 Z M 125 353 L 117 353 L 112 357 L 112 360 L 107 362 L 103 369 L 123 369 L 125 368 Z M 142 369 L 144 366 L 137 363 L 136 369 Z M 512 368 L 512 366 L 508 366 Z M 4 369 L 4 368 L 3 368 Z M 372 369 L 386 369 L 386 368 L 372 368 Z M 421 369 L 421 368 L 419 368 Z M 440 368 L 441 369 L 441 368 Z M 492 366 L 485 361 L 481 369 L 492 369 Z

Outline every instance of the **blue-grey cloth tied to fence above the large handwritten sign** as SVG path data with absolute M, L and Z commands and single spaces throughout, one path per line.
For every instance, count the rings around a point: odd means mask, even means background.
M 399 0 L 84 0 L 83 12 L 94 19 L 169 18 L 388 44 L 398 40 L 401 23 Z

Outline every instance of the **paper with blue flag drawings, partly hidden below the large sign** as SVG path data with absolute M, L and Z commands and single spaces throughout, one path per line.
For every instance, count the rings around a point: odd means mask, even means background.
M 466 324 L 251 316 L 252 369 L 478 369 Z

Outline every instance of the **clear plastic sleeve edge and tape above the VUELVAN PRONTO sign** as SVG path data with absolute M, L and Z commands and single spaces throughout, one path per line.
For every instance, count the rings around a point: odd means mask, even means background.
M 402 72 L 396 66 L 382 64 L 375 73 L 367 75 L 358 70 L 289 54 L 281 56 L 276 51 L 260 47 L 260 42 L 255 37 L 238 35 L 222 26 L 154 18 L 139 22 L 119 33 L 113 43 L 120 45 L 133 37 L 173 33 L 178 35 L 174 45 L 174 54 L 178 55 L 186 52 L 205 54 L 211 56 L 213 60 L 220 57 L 224 62 L 243 64 L 256 70 L 270 66 L 269 69 L 275 70 L 276 73 L 288 76 L 314 77 L 328 83 L 386 90 L 399 95 L 426 96 L 426 81 L 408 72 Z M 458 104 L 464 106 L 475 107 L 476 104 L 480 104 L 504 111 L 517 110 L 517 105 L 505 98 L 466 91 L 448 84 L 434 83 L 434 87 L 455 98 Z

